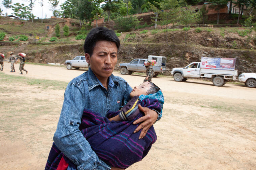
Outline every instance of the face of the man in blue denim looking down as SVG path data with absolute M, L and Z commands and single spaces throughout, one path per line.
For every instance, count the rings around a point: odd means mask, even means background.
M 98 41 L 93 54 L 85 54 L 86 61 L 99 80 L 107 79 L 115 69 L 117 63 L 117 45 L 111 41 Z

